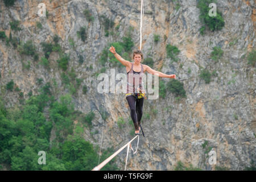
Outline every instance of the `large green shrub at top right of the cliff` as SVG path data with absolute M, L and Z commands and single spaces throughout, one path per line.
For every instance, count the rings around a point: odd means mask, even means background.
M 222 18 L 221 13 L 217 10 L 216 16 L 209 16 L 209 10 L 211 9 L 209 7 L 210 3 L 216 3 L 216 1 L 212 0 L 199 0 L 197 2 L 197 8 L 200 9 L 200 15 L 199 18 L 201 22 L 207 26 L 211 31 L 221 30 L 222 27 L 225 26 L 224 19 Z M 204 26 L 200 29 L 200 34 L 204 34 Z

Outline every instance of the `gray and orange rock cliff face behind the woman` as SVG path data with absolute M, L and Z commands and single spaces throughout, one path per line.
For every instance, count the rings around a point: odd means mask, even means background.
M 36 14 L 41 2 L 46 4 L 48 18 Z M 173 170 L 178 161 L 204 170 L 214 170 L 216 166 L 233 170 L 249 167 L 250 162 L 256 160 L 256 72 L 245 57 L 255 49 L 256 4 L 253 0 L 217 1 L 225 27 L 221 31 L 207 31 L 202 36 L 196 1 L 177 2 L 144 1 L 142 51 L 154 60 L 153 69 L 176 74 L 177 80 L 183 80 L 187 98 L 177 101 L 167 91 L 165 99 L 144 101 L 142 126 L 146 137 L 140 138 L 137 154 L 129 156 L 127 169 Z M 118 150 L 133 137 L 124 94 L 97 93 L 99 81 L 95 73 L 102 68 L 98 63 L 102 50 L 110 42 L 122 40 L 127 32 L 130 31 L 135 43 L 133 48 L 139 48 L 140 5 L 141 1 L 134 0 L 18 0 L 14 6 L 6 7 L 0 1 L 0 31 L 9 36 L 10 22 L 19 20 L 22 30 L 12 35 L 22 43 L 32 40 L 39 57 L 43 56 L 40 43 L 52 42 L 55 34 L 60 37 L 61 48 L 70 55 L 68 70 L 75 69 L 77 77 L 83 79 L 82 85 L 88 86 L 87 94 L 82 94 L 80 88 L 73 96 L 76 109 L 82 113 L 93 110 L 96 114 L 92 129 L 85 128 L 84 139 L 102 148 Z M 93 21 L 85 18 L 84 10 L 89 10 Z M 114 27 L 110 28 L 113 35 L 105 36 L 101 15 L 113 20 Z M 36 22 L 40 22 L 42 28 L 38 28 Z M 85 42 L 77 36 L 80 27 L 86 27 Z M 160 35 L 158 43 L 154 43 L 154 34 Z M 177 63 L 166 58 L 166 45 L 170 43 L 180 50 Z M 210 59 L 215 46 L 224 51 L 217 63 Z M 79 64 L 79 56 L 84 63 Z M 25 98 L 30 90 L 38 94 L 37 78 L 43 78 L 43 82 L 52 82 L 54 78 L 57 97 L 67 93 L 57 59 L 59 55 L 52 52 L 50 69 L 38 64 L 39 61 L 31 61 L 30 69 L 23 69 L 23 62 L 31 57 L 21 55 L 18 49 L 0 40 L 1 94 L 8 101 L 7 106 L 14 106 L 19 98 L 18 94 L 5 91 L 11 79 Z M 201 68 L 216 71 L 209 84 L 199 77 Z M 108 75 L 109 69 L 106 66 Z M 116 73 L 125 71 L 125 67 L 115 68 Z M 101 117 L 102 111 L 108 114 L 106 121 Z M 121 128 L 117 125 L 119 117 L 126 121 Z M 216 165 L 209 164 L 210 149 L 216 152 Z M 125 156 L 125 150 L 117 156 L 120 169 L 124 168 Z

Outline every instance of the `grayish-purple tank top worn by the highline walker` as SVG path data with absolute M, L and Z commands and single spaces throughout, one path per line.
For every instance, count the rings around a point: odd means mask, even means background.
M 134 65 L 134 63 L 131 64 L 131 69 L 127 73 L 126 94 L 127 93 L 138 93 L 138 90 L 137 90 L 138 88 L 143 90 L 143 92 L 144 92 L 144 86 L 143 86 L 143 81 L 142 81 L 142 78 L 144 76 L 143 65 L 141 64 L 141 72 L 133 71 L 133 65 Z

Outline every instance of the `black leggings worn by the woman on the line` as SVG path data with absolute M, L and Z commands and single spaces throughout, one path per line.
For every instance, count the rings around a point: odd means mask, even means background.
M 133 119 L 135 130 L 139 130 L 139 125 L 141 124 L 141 118 L 143 114 L 142 109 L 144 98 L 142 97 L 140 99 L 136 99 L 135 96 L 127 96 L 126 100 L 128 101 L 130 107 L 131 119 Z

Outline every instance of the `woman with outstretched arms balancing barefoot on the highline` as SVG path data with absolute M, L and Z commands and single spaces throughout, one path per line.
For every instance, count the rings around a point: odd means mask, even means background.
M 148 65 L 141 64 L 141 60 L 143 59 L 142 52 L 137 49 L 133 51 L 133 60 L 130 61 L 124 60 L 117 52 L 115 52 L 115 48 L 111 46 L 109 51 L 112 52 L 115 58 L 122 63 L 126 67 L 127 72 L 127 91 L 126 91 L 126 100 L 128 101 L 131 113 L 131 119 L 133 119 L 134 127 L 135 127 L 135 135 L 139 135 L 139 131 L 141 130 L 141 118 L 142 118 L 142 109 L 143 109 L 143 100 L 145 97 L 142 77 L 144 72 L 151 73 L 152 75 L 158 74 L 159 77 L 163 78 L 176 78 L 176 75 L 166 75 L 162 72 L 155 71 L 154 69 L 148 67 Z M 135 78 L 138 80 L 137 84 L 135 84 Z M 146 97 L 145 97 L 146 98 Z M 136 105 L 135 105 L 136 103 Z

